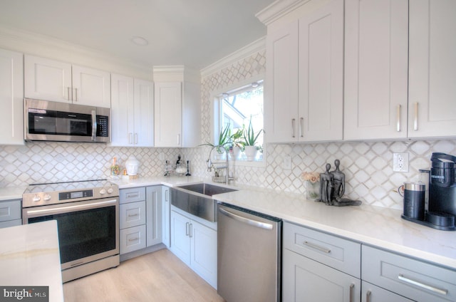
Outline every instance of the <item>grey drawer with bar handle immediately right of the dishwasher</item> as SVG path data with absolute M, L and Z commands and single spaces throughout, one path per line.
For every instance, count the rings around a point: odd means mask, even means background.
M 361 278 L 361 244 L 284 223 L 284 248 Z

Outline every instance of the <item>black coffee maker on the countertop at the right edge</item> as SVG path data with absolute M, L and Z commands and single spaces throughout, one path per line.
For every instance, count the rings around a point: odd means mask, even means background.
M 456 156 L 432 153 L 429 180 L 429 209 L 426 221 L 443 229 L 455 228 Z

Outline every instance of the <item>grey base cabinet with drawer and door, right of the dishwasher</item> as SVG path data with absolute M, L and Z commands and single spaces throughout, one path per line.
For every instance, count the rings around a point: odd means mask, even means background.
M 361 244 L 284 222 L 282 298 L 361 301 Z

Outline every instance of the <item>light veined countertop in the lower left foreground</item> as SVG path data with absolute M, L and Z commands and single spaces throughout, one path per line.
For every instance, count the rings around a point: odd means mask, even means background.
M 57 221 L 0 229 L 0 272 L 0 286 L 49 286 L 49 301 L 63 301 Z

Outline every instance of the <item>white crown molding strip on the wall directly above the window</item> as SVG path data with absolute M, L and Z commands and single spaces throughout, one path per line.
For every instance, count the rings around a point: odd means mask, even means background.
M 211 75 L 212 73 L 216 73 L 217 71 L 222 70 L 228 66 L 231 66 L 233 63 L 242 60 L 243 58 L 247 58 L 252 56 L 254 53 L 259 51 L 264 51 L 266 49 L 266 36 L 263 38 L 259 38 L 257 41 L 250 43 L 247 46 L 239 49 L 238 51 L 234 51 L 230 55 L 220 59 L 219 61 L 212 63 L 211 65 L 203 68 L 201 70 L 201 77 L 204 78 L 207 75 Z

